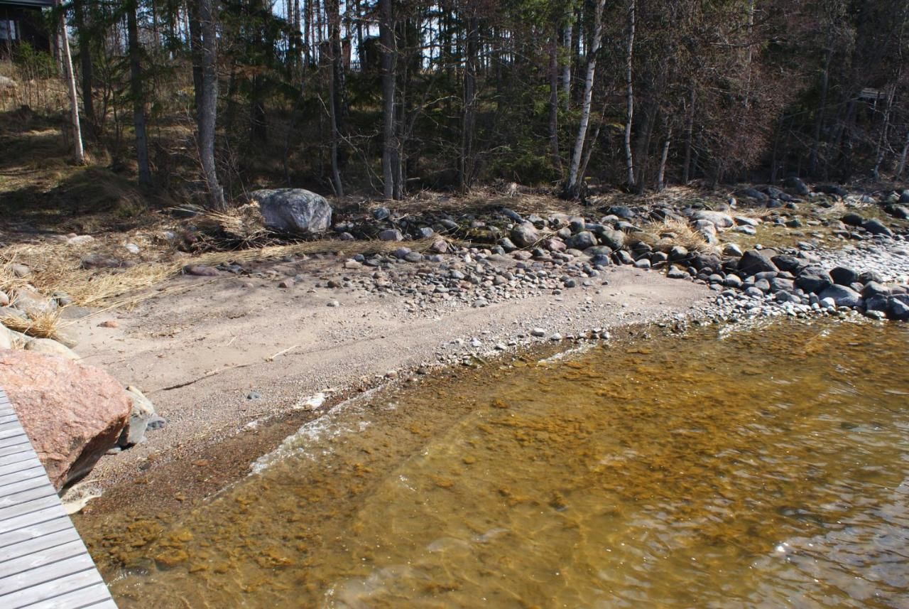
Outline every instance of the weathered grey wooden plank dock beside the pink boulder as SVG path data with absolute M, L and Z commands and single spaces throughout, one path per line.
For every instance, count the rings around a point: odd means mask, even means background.
M 2 389 L 0 607 L 116 609 Z

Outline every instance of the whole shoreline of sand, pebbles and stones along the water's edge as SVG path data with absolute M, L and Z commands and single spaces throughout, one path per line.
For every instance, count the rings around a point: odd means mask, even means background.
M 167 424 L 144 444 L 105 457 L 73 496 L 104 493 L 95 512 L 142 505 L 132 497 L 138 479 L 163 504 L 200 500 L 245 475 L 291 427 L 359 392 L 529 349 L 556 352 L 634 324 L 683 329 L 692 321 L 851 311 L 901 318 L 909 301 L 902 226 L 809 220 L 847 245 L 816 238 L 743 252 L 727 241 L 713 254 L 665 245 L 676 236 L 668 229 L 659 244 L 626 242 L 636 230 L 628 221 L 685 217 L 714 243 L 717 235 L 751 235 L 761 222 L 800 224 L 785 219 L 785 209 L 763 220 L 731 215 L 734 209 L 609 211 L 599 219 L 544 219 L 504 210 L 499 219 L 507 224 L 491 231 L 510 236 L 494 246 L 441 241 L 425 254 L 402 247 L 195 269 L 132 312 L 76 321 L 85 361 L 141 387 Z M 532 246 L 514 249 L 513 240 Z M 837 268 L 843 273 L 834 280 Z M 219 276 L 200 281 L 196 271 Z

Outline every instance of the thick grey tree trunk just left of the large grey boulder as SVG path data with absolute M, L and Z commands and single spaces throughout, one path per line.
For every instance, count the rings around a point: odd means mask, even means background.
M 214 0 L 198 0 L 199 24 L 202 35 L 202 90 L 199 92 L 199 161 L 208 188 L 208 205 L 224 210 L 225 193 L 218 182 L 215 166 L 215 123 L 218 112 L 217 73 L 217 14 Z

